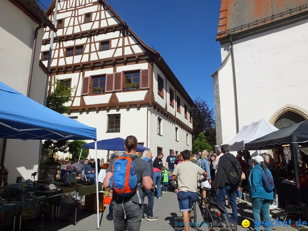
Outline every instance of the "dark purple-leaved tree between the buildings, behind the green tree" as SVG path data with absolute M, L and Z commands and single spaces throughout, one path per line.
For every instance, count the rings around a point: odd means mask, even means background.
M 216 129 L 213 109 L 210 110 L 208 104 L 200 97 L 197 97 L 194 102 L 196 107 L 192 109 L 193 141 L 197 139 L 200 132 L 203 132 L 207 142 L 212 146 L 211 150 L 214 150 L 216 145 Z

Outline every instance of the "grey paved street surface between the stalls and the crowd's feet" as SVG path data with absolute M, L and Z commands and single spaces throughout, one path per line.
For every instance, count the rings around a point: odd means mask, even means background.
M 147 210 L 147 199 L 145 199 L 145 211 Z M 101 216 L 101 229 L 100 230 L 113 230 L 113 221 L 107 221 L 106 215 L 108 213 L 108 205 L 106 205 L 106 212 L 104 212 Z M 141 223 L 141 229 L 143 231 L 150 231 L 150 230 L 164 230 L 164 231 L 172 231 L 176 230 L 176 222 L 181 222 L 180 216 L 181 213 L 179 211 L 178 202 L 176 199 L 176 194 L 172 192 L 164 193 L 160 200 L 156 199 L 155 197 L 155 204 L 154 204 L 154 214 L 159 217 L 157 221 L 147 221 L 144 220 Z M 229 210 L 231 213 L 231 210 Z M 70 217 L 66 217 L 70 218 Z M 73 218 L 73 215 L 71 215 Z M 74 227 L 67 222 L 57 221 L 55 223 L 51 223 L 50 221 L 44 222 L 44 231 L 71 231 L 71 230 L 80 230 L 80 231 L 89 231 L 89 230 L 96 230 L 96 214 L 88 213 L 88 212 L 78 212 L 77 219 L 79 219 L 78 224 Z M 253 227 L 253 216 L 250 205 L 246 203 L 238 204 L 238 231 L 243 230 L 241 226 L 241 222 L 244 219 L 248 219 L 250 221 L 249 230 L 252 230 Z M 197 214 L 197 222 L 201 222 L 201 213 L 200 211 Z M 35 229 L 36 231 L 40 231 L 40 227 L 38 227 L 39 223 L 34 223 L 32 226 L 29 226 L 29 229 Z M 23 227 L 26 229 L 26 227 Z M 194 230 L 194 229 L 191 229 Z M 202 231 L 208 231 L 207 226 L 202 226 Z M 246 230 L 246 229 L 244 229 Z M 277 231 L 292 231 L 295 230 L 291 227 L 277 227 Z

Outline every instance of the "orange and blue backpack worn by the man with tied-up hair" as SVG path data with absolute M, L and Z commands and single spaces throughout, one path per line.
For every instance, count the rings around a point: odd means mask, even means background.
M 118 157 L 112 164 L 112 176 L 109 180 L 110 188 L 120 197 L 128 197 L 136 193 L 137 176 L 134 172 L 133 160 L 138 156 Z

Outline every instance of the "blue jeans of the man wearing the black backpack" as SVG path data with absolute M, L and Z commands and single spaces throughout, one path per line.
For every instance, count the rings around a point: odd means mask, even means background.
M 226 213 L 228 221 L 232 221 L 233 223 L 237 224 L 237 204 L 236 204 L 236 193 L 237 187 L 234 184 L 229 184 L 223 188 L 219 188 L 218 195 L 217 195 L 217 202 L 222 206 L 225 206 L 225 196 L 229 196 L 230 205 L 232 208 L 232 217 L 230 219 L 229 213 Z

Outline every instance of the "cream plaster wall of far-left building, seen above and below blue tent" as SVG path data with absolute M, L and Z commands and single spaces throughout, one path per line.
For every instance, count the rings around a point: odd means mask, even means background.
M 0 81 L 26 94 L 34 30 L 39 25 L 14 6 L 10 1 L 2 1 L 0 7 Z M 14 17 L 12 17 L 14 15 Z M 39 70 L 39 58 L 42 45 L 43 29 L 39 30 L 30 97 L 43 102 L 46 75 Z M 9 169 L 9 183 L 15 183 L 17 176 L 31 178 L 39 160 L 39 141 L 8 140 L 5 166 Z

